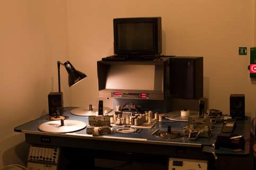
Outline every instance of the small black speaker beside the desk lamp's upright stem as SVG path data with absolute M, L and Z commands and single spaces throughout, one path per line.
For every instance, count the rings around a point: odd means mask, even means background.
M 49 115 L 63 114 L 63 93 L 50 92 L 48 95 Z

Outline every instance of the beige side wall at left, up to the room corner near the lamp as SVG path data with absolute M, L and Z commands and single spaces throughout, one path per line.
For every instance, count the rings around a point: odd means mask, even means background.
M 67 59 L 66 3 L 0 1 L 0 21 L 1 168 L 27 159 L 24 135 L 13 128 L 47 114 L 47 95 L 57 90 L 57 60 Z

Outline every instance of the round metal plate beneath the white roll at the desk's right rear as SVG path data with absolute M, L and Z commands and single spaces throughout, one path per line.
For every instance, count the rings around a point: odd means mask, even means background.
M 189 117 L 197 117 L 199 116 L 199 111 L 195 110 L 190 110 L 190 115 L 189 116 L 182 116 L 180 114 L 180 111 L 172 111 L 172 112 L 167 112 L 163 114 L 166 119 L 169 120 L 174 120 L 174 121 L 188 121 Z

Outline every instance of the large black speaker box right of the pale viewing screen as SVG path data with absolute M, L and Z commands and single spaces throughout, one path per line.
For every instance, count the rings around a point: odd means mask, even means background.
M 171 97 L 200 99 L 204 96 L 202 57 L 171 57 L 169 66 Z

